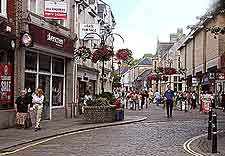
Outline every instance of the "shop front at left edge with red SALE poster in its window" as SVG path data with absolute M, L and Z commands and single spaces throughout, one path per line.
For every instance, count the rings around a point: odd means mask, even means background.
M 0 25 L 0 129 L 14 126 L 15 36 Z

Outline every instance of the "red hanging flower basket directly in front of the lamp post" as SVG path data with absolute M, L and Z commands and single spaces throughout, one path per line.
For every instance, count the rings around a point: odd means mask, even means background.
M 109 61 L 110 58 L 113 56 L 113 51 L 109 50 L 106 46 L 97 49 L 93 54 L 92 54 L 92 62 L 97 63 L 98 61 Z

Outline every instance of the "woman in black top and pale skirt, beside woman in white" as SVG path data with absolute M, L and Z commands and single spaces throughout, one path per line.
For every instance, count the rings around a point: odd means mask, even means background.
M 20 96 L 16 99 L 15 109 L 16 109 L 16 127 L 26 128 L 25 120 L 28 118 L 30 104 L 28 98 L 26 97 L 25 90 L 21 90 Z

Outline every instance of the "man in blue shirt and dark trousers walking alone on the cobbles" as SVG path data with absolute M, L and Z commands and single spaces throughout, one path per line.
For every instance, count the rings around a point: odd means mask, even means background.
M 174 91 L 171 90 L 170 85 L 167 86 L 167 91 L 165 92 L 164 97 L 166 99 L 167 118 L 171 118 L 173 111 Z

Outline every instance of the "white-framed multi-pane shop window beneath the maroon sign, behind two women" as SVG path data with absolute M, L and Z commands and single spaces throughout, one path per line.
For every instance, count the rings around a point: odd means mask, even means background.
M 26 51 L 25 88 L 41 87 L 45 95 L 45 105 L 64 106 L 65 61 L 51 55 Z

